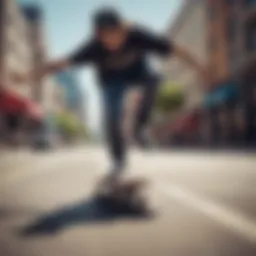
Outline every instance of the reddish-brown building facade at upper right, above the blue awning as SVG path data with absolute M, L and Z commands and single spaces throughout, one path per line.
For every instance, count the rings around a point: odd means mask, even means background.
M 209 66 L 217 80 L 233 75 L 255 53 L 255 0 L 208 0 Z

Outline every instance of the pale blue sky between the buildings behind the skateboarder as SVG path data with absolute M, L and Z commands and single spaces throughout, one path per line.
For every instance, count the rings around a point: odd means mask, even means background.
M 182 0 L 18 0 L 21 3 L 41 4 L 45 13 L 46 44 L 49 58 L 63 57 L 90 37 L 91 17 L 97 8 L 114 6 L 124 17 L 164 32 L 171 24 Z M 99 88 L 94 70 L 80 72 L 81 85 L 86 100 L 86 121 L 90 129 L 100 130 L 101 108 Z

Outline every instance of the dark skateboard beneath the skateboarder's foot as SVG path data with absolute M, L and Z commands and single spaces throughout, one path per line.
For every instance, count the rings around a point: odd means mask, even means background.
M 127 179 L 109 185 L 101 181 L 96 189 L 96 199 L 117 212 L 147 214 L 150 209 L 146 198 L 145 179 Z

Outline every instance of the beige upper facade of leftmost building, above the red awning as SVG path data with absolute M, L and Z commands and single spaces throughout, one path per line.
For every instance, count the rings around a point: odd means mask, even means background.
M 30 23 L 15 0 L 1 1 L 0 13 L 0 84 L 30 98 L 31 85 L 17 85 L 12 80 L 13 72 L 27 72 L 32 67 Z

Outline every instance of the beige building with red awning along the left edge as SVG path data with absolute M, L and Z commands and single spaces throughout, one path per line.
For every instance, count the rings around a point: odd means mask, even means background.
M 21 6 L 16 0 L 1 0 L 0 38 L 0 134 L 4 141 L 19 134 L 23 144 L 29 141 L 32 126 L 43 125 L 44 97 L 50 93 L 45 93 L 45 80 L 32 79 L 21 84 L 14 78 L 15 74 L 27 73 L 45 61 L 41 9 Z

